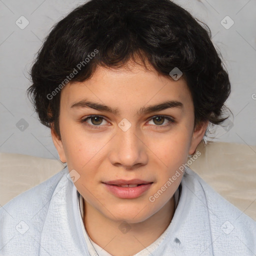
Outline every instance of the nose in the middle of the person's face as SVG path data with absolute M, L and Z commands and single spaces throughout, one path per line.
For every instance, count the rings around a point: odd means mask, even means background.
M 110 162 L 115 166 L 133 170 L 148 161 L 148 148 L 141 132 L 131 125 L 126 131 L 117 128 L 111 140 Z

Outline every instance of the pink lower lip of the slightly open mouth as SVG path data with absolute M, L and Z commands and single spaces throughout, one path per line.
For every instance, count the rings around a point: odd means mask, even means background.
M 115 196 L 124 199 L 131 199 L 140 196 L 142 193 L 148 190 L 152 183 L 142 184 L 134 187 L 122 187 L 116 185 L 109 185 L 106 183 L 103 184 Z

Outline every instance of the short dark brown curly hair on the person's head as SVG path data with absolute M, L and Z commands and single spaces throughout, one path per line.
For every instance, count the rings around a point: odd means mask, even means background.
M 67 77 L 89 79 L 97 65 L 118 68 L 139 57 L 170 79 L 174 67 L 182 71 L 193 99 L 194 127 L 206 120 L 220 124 L 228 118 L 222 114 L 230 82 L 210 37 L 206 24 L 170 0 L 90 0 L 53 26 L 31 67 L 27 93 L 40 122 L 61 139 L 56 88 Z

